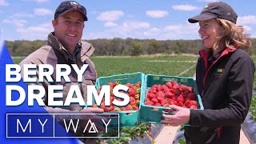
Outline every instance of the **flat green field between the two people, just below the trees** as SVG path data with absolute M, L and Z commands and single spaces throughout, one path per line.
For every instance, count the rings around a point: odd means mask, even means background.
M 197 60 L 194 56 L 159 56 L 159 57 L 92 57 L 90 58 L 98 73 L 98 77 L 142 72 L 144 74 L 178 75 Z M 19 63 L 22 58 L 14 58 Z M 191 62 L 188 62 L 191 61 Z M 194 71 L 186 74 L 192 77 Z M 183 75 L 182 75 L 183 76 Z

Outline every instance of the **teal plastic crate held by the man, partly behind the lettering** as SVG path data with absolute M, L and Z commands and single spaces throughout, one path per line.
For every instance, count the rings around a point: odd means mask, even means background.
M 137 126 L 140 121 L 140 109 L 142 98 L 145 97 L 146 90 L 144 89 L 144 78 L 145 74 L 140 72 L 132 74 L 119 74 L 107 77 L 101 77 L 96 80 L 96 88 L 99 90 L 100 86 L 108 85 L 109 82 L 121 82 L 126 84 L 128 82 L 135 84 L 136 82 L 141 81 L 141 91 L 140 91 L 140 105 L 139 110 L 126 110 L 126 111 L 114 111 L 114 112 L 104 112 L 104 114 L 119 114 L 120 116 L 120 127 L 130 127 Z M 111 117 L 110 117 L 111 118 Z

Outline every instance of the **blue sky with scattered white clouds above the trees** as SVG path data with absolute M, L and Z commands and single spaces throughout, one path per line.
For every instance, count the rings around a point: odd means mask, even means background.
M 61 0 L 0 0 L 0 34 L 4 40 L 46 40 Z M 77 0 L 89 21 L 82 39 L 198 39 L 198 24 L 187 18 L 216 0 Z M 223 0 L 238 13 L 238 25 L 256 38 L 256 1 Z

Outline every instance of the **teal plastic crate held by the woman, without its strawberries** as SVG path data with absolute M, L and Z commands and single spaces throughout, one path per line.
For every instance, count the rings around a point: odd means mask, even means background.
M 176 77 L 176 76 L 166 76 L 166 75 L 152 75 L 148 74 L 145 76 L 145 94 L 143 94 L 142 98 L 142 108 L 141 108 L 141 121 L 142 122 L 150 122 L 150 123 L 160 123 L 162 119 L 162 114 L 166 112 L 163 112 L 163 110 L 172 110 L 170 107 L 164 107 L 164 106 L 146 106 L 144 104 L 147 91 L 150 89 L 151 86 L 154 84 L 166 84 L 166 82 L 173 82 L 176 81 L 178 84 L 191 86 L 193 87 L 193 90 L 196 94 L 196 101 L 198 102 L 198 109 L 204 110 L 204 107 L 202 106 L 202 99 L 200 95 L 198 94 L 197 86 L 193 78 L 186 78 L 186 77 Z M 169 113 L 170 114 L 170 113 Z M 186 126 L 189 126 L 186 124 Z

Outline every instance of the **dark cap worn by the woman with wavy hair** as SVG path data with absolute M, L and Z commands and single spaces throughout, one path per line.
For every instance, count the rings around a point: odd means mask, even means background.
M 236 23 L 238 14 L 236 14 L 232 7 L 225 2 L 212 2 L 203 8 L 201 14 L 198 14 L 193 18 L 189 18 L 188 21 L 190 23 L 195 23 L 206 21 L 211 18 L 222 18 Z

